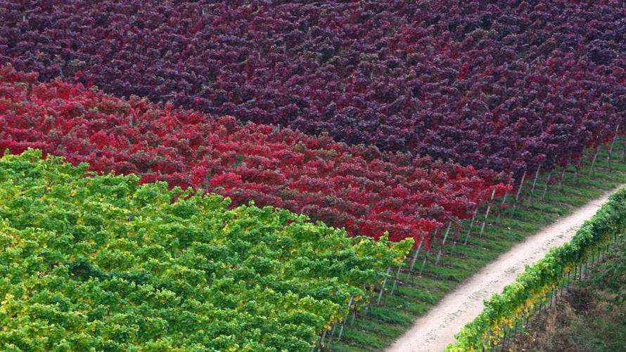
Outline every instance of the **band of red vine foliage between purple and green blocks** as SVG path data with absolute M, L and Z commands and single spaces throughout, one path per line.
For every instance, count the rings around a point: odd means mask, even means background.
M 231 197 L 234 205 L 282 207 L 354 235 L 389 231 L 391 240 L 430 243 L 435 226 L 471 216 L 498 182 L 473 167 L 212 119 L 75 84 L 34 82 L 29 91 L 16 78 L 29 76 L 8 67 L 0 77 L 3 149 L 41 148 L 94 171 L 139 174 L 142 183 L 168 181 Z

